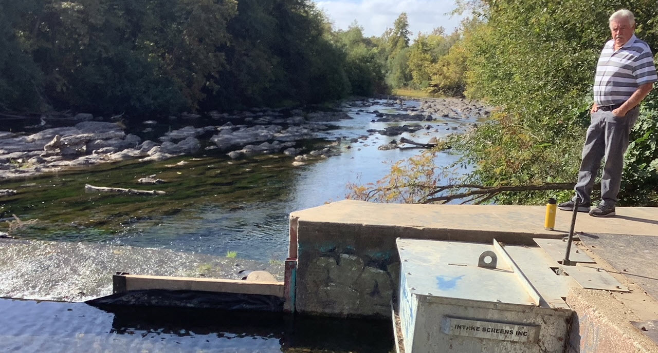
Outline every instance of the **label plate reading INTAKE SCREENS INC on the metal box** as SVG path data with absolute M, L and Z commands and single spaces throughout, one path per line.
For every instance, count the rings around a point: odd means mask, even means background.
M 512 342 L 536 342 L 539 338 L 539 330 L 540 327 L 534 325 L 457 319 L 449 316 L 443 317 L 441 322 L 441 331 L 446 335 Z

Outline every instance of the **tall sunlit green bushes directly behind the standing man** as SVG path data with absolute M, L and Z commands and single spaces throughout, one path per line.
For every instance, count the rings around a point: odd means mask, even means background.
M 465 154 L 464 163 L 477 167 L 468 182 L 486 186 L 573 182 L 589 123 L 597 58 L 610 37 L 607 19 L 619 3 L 503 0 L 490 4 L 486 25 L 460 43 L 469 53 L 466 94 L 504 108 L 457 144 Z M 638 37 L 657 47 L 655 1 L 630 1 L 626 6 L 636 13 Z M 622 203 L 655 203 L 650 186 L 656 176 L 655 95 L 645 102 L 627 156 Z M 540 203 L 549 195 L 501 194 L 495 202 Z

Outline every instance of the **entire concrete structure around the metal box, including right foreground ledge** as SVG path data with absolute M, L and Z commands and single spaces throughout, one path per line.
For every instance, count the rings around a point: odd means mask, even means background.
M 397 205 L 340 201 L 298 211 L 290 218 L 290 254 L 286 262 L 286 296 L 292 310 L 330 316 L 390 318 L 399 288 L 396 238 L 437 239 L 531 245 L 533 238 L 560 239 L 569 232 L 571 214 L 558 211 L 555 230 L 544 230 L 544 206 Z M 578 215 L 582 239 L 597 234 L 658 236 L 658 210 L 618 207 L 613 218 Z M 658 302 L 597 256 L 594 245 L 574 249 L 594 259 L 578 264 L 602 268 L 629 292 L 571 289 L 565 297 L 575 310 L 567 344 L 569 353 L 658 353 L 655 332 L 631 322 L 658 318 Z M 288 281 L 292 278 L 293 281 Z M 647 280 L 650 280 L 647 278 Z M 401 336 L 399 322 L 397 334 Z M 641 321 L 642 320 L 642 321 Z

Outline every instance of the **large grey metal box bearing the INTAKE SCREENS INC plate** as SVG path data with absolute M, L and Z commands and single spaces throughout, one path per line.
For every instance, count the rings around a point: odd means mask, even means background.
M 397 249 L 405 353 L 564 351 L 572 311 L 560 297 L 544 299 L 497 241 L 397 239 Z M 526 264 L 551 271 L 549 261 L 527 255 Z

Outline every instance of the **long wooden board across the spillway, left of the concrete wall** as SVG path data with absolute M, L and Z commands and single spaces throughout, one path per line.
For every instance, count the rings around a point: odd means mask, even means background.
M 126 291 L 163 289 L 166 291 L 206 291 L 284 297 L 284 282 L 221 280 L 168 276 L 125 275 Z

